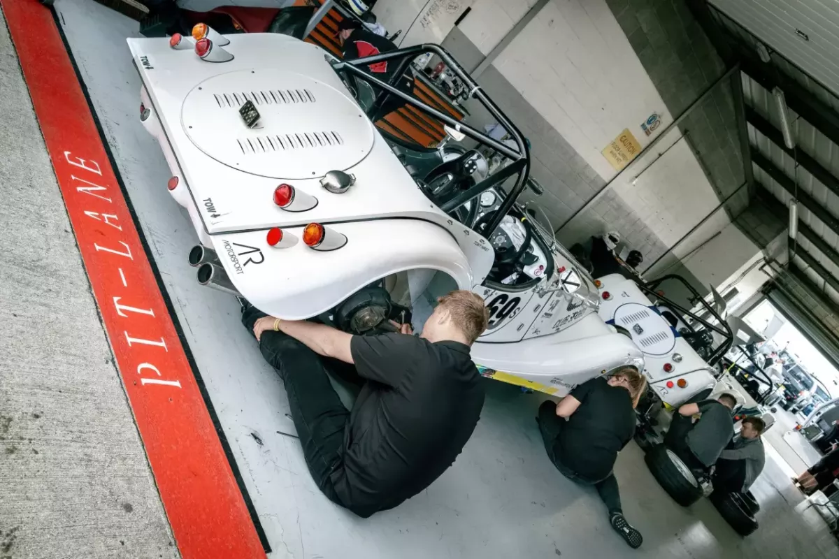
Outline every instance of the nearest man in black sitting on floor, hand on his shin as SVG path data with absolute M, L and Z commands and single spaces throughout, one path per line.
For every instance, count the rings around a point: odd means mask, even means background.
M 440 298 L 420 337 L 408 324 L 401 334 L 353 336 L 251 305 L 242 310 L 242 323 L 284 380 L 315 483 L 364 518 L 427 488 L 472 436 L 484 394 L 469 350 L 487 320 L 483 300 L 469 291 Z M 352 411 L 327 371 L 367 380 Z

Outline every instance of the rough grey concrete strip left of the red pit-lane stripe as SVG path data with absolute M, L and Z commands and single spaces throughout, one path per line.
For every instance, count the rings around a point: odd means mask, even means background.
M 0 557 L 177 557 L 0 13 Z

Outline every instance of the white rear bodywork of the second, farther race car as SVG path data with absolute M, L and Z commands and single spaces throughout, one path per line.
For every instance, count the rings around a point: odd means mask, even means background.
M 608 292 L 610 295 L 608 300 L 601 301 L 598 311 L 600 317 L 607 323 L 625 329 L 644 352 L 644 375 L 661 401 L 670 406 L 678 406 L 699 392 L 717 385 L 713 370 L 670 327 L 670 323 L 661 316 L 635 282 L 619 274 L 602 277 L 600 282 L 600 292 Z M 675 360 L 674 355 L 680 355 L 680 360 Z M 664 370 L 664 365 L 668 363 L 673 367 L 670 372 Z M 677 384 L 680 379 L 687 383 L 684 388 Z M 668 386 L 668 383 L 672 383 L 672 386 Z

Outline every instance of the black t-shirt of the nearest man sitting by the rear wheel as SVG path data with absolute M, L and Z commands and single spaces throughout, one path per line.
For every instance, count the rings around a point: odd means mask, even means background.
M 420 493 L 454 463 L 484 393 L 469 347 L 458 342 L 383 334 L 353 336 L 350 349 L 369 382 L 352 407 L 336 491 L 372 515 Z

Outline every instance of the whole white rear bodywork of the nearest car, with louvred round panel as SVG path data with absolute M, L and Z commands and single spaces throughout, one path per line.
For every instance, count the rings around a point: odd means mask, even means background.
M 266 313 L 309 318 L 393 272 L 446 272 L 464 289 L 484 280 L 492 247 L 425 197 L 324 50 L 282 34 L 229 39 L 224 49 L 234 59 L 216 64 L 170 49 L 168 39 L 128 45 L 150 112 L 143 125 L 180 179 L 171 194 L 238 292 Z M 245 101 L 261 115 L 253 129 L 238 112 Z M 355 184 L 328 192 L 320 179 L 331 170 L 351 173 Z M 317 204 L 280 209 L 273 194 L 282 183 Z M 300 237 L 311 222 L 344 233 L 347 245 L 276 250 L 265 240 L 275 226 Z M 237 267 L 242 251 L 234 242 L 250 247 L 248 266 Z

